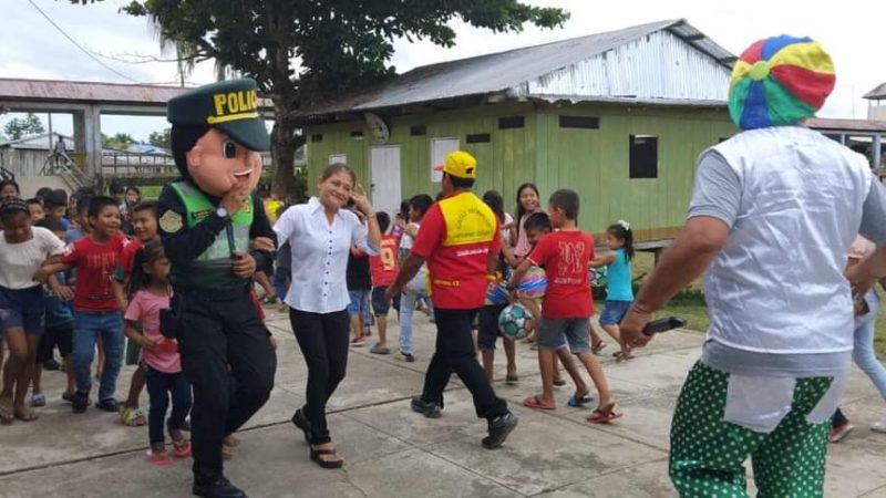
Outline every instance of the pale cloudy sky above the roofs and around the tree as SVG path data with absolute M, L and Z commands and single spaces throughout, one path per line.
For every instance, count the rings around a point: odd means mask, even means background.
M 526 1 L 526 0 L 524 0 Z M 173 58 L 162 53 L 155 30 L 143 18 L 119 13 L 128 0 L 103 0 L 91 6 L 71 4 L 68 0 L 0 0 L 4 23 L 0 30 L 0 76 L 95 81 L 114 83 L 176 84 L 174 63 L 138 61 Z M 391 63 L 399 72 L 418 65 L 499 52 L 611 31 L 646 22 L 683 18 L 714 42 L 732 53 L 741 53 L 755 40 L 775 35 L 808 35 L 820 41 L 834 59 L 837 83 L 820 116 L 864 118 L 869 90 L 886 81 L 886 64 L 878 34 L 886 23 L 883 1 L 853 2 L 852 7 L 823 3 L 811 8 L 808 0 L 745 0 L 744 2 L 690 0 L 632 0 L 610 3 L 589 0 L 528 0 L 527 3 L 559 7 L 571 17 L 562 29 L 540 30 L 526 27 L 521 33 L 492 33 L 453 21 L 456 46 L 444 49 L 430 42 L 398 40 Z M 34 7 L 39 7 L 73 42 L 60 33 Z M 104 63 L 102 65 L 74 44 Z M 123 62 L 123 61 L 127 62 Z M 109 69 L 110 68 L 110 69 Z M 189 84 L 214 80 L 212 62 L 199 64 L 188 77 Z M 0 128 L 14 114 L 0 115 Z M 47 116 L 42 115 L 47 121 Z M 104 116 L 106 134 L 128 133 L 146 141 L 153 131 L 166 127 L 162 117 Z M 71 134 L 68 115 L 54 115 L 53 128 Z

